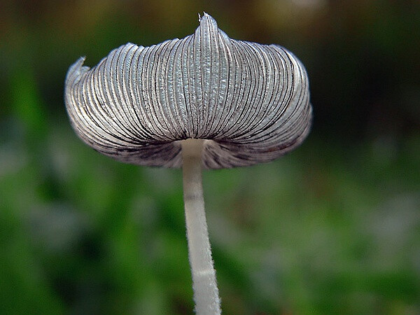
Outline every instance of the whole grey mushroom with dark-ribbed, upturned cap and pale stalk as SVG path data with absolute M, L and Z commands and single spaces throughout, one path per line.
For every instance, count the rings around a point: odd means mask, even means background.
M 151 47 L 127 43 L 97 66 L 80 57 L 65 103 L 78 137 L 121 162 L 182 167 L 198 314 L 220 314 L 204 214 L 202 169 L 269 162 L 307 137 L 307 73 L 291 52 L 229 38 L 204 13 L 194 34 Z

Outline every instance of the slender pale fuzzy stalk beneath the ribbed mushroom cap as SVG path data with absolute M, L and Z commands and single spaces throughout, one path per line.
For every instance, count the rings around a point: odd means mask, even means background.
M 202 187 L 202 139 L 187 139 L 182 143 L 183 195 L 186 210 L 188 253 L 195 311 L 199 315 L 221 314 L 216 283 L 216 271 L 211 259 L 209 232 Z

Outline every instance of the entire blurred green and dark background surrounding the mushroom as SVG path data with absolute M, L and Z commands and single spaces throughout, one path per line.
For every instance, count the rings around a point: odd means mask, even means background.
M 128 41 L 279 43 L 314 126 L 275 162 L 204 173 L 225 314 L 420 314 L 420 5 L 374 0 L 0 3 L 0 314 L 193 314 L 181 172 L 71 130 L 66 71 Z

